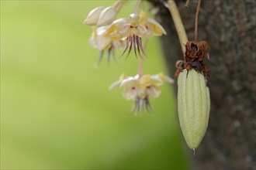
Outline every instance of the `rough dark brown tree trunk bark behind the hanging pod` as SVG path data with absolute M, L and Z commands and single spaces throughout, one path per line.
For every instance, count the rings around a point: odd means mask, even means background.
M 168 32 L 161 38 L 170 75 L 183 59 L 178 35 L 163 0 L 157 20 Z M 194 40 L 197 1 L 176 1 L 189 40 Z M 206 136 L 191 156 L 195 169 L 256 169 L 256 7 L 254 0 L 202 1 L 198 39 L 209 43 L 211 111 Z M 176 89 L 177 92 L 177 89 Z M 189 151 L 189 150 L 188 150 Z

